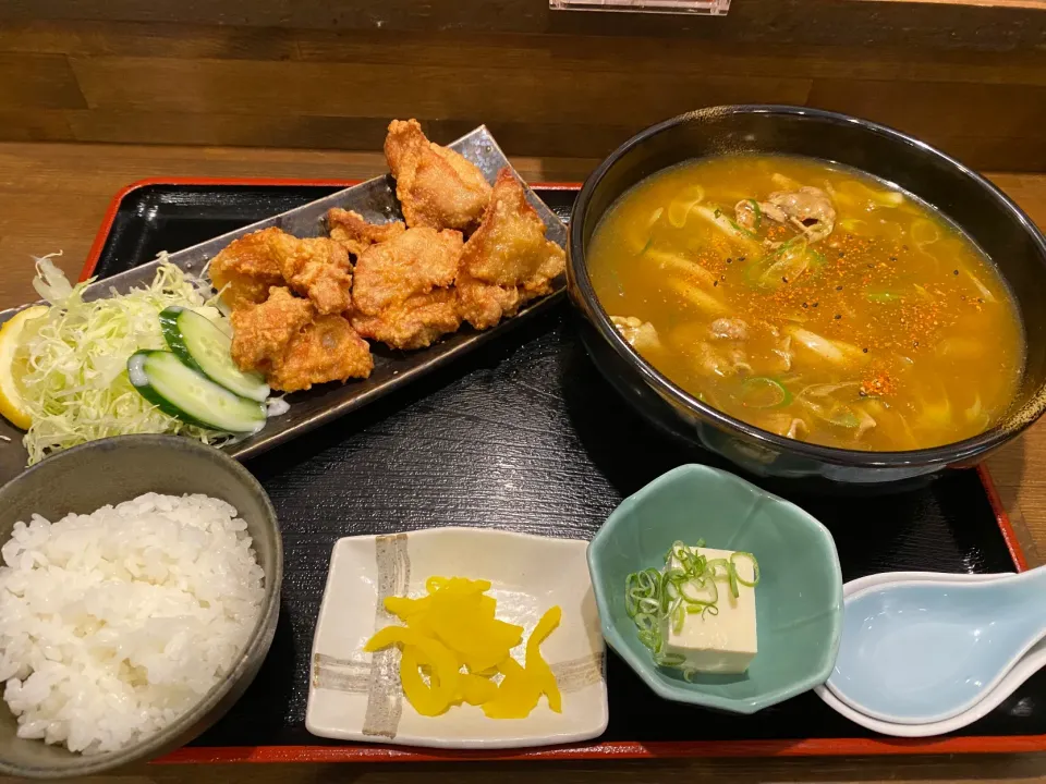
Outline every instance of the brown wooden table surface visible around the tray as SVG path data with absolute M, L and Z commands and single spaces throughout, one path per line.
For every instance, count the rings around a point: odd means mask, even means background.
M 596 161 L 514 159 L 531 182 L 583 180 Z M 0 308 L 35 298 L 32 255 L 62 250 L 59 260 L 78 272 L 113 194 L 156 176 L 297 177 L 354 180 L 385 171 L 377 154 L 282 149 L 0 144 Z M 1046 174 L 993 174 L 992 179 L 1046 226 Z M 989 461 L 1004 503 L 1024 539 L 1030 560 L 1046 552 L 1046 419 Z M 665 762 L 471 763 L 464 765 L 143 765 L 108 784 L 144 782 L 252 784 L 454 782 L 502 784 L 551 777 L 574 782 L 684 782 L 697 777 L 757 781 L 1046 781 L 1046 756 L 950 756 L 879 759 L 695 760 Z M 0 779 L 0 783 L 11 781 Z

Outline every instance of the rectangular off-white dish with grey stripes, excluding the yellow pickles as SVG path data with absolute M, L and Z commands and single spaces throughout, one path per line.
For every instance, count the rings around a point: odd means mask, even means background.
M 603 635 L 587 542 L 485 528 L 430 528 L 339 539 L 313 639 L 305 726 L 314 735 L 436 748 L 516 748 L 575 743 L 607 727 Z M 479 708 L 419 715 L 400 688 L 397 648 L 364 653 L 374 633 L 398 624 L 388 596 L 425 593 L 431 576 L 487 579 L 497 617 L 524 627 L 524 640 L 550 607 L 562 622 L 543 644 L 562 693 L 562 713 L 542 699 L 526 718 L 487 719 Z M 520 659 L 520 645 L 513 656 Z

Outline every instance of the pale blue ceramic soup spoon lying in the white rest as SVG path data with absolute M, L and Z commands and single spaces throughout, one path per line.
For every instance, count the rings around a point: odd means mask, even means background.
M 847 597 L 832 694 L 895 724 L 945 721 L 980 702 L 1046 637 L 1046 569 L 952 577 L 895 579 Z

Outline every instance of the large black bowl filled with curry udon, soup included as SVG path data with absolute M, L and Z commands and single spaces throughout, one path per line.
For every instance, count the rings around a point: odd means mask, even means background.
M 1046 408 L 1046 240 L 881 125 L 763 106 L 664 122 L 588 177 L 569 250 L 606 378 L 756 475 L 903 483 Z

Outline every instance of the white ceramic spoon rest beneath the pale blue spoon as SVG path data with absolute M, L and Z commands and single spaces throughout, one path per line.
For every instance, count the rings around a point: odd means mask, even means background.
M 881 586 L 896 581 L 940 581 L 942 578 L 948 581 L 961 583 L 985 583 L 1010 577 L 1010 574 L 994 575 L 941 575 L 936 572 L 896 572 L 877 575 L 869 575 L 861 579 L 852 580 L 843 586 L 843 596 L 853 596 L 875 586 Z M 866 715 L 840 700 L 826 686 L 817 686 L 814 691 L 826 705 L 839 712 L 841 715 L 850 719 L 855 724 L 872 730 L 884 735 L 897 737 L 931 737 L 934 735 L 944 735 L 949 732 L 960 730 L 987 713 L 995 710 L 1005 699 L 1007 699 L 1017 688 L 1038 670 L 1046 665 L 1046 640 L 1036 644 L 1029 650 L 1010 671 L 995 685 L 987 690 L 980 702 L 971 706 L 968 710 L 942 721 L 929 722 L 925 724 L 900 724 L 881 719 L 875 719 Z

